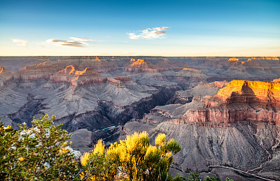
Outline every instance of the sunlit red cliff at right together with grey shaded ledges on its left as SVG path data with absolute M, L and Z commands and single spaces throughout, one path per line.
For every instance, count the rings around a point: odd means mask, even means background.
M 232 80 L 200 84 L 179 91 L 166 106 L 145 115 L 145 122 L 160 120 L 230 124 L 246 120 L 280 124 L 279 82 Z M 161 122 L 161 121 L 160 121 Z

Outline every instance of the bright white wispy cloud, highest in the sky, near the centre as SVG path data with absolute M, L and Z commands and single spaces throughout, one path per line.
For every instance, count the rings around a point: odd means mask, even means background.
M 169 29 L 169 27 L 147 28 L 144 30 L 139 30 L 137 32 L 128 33 L 128 36 L 132 40 L 165 38 L 167 29 Z

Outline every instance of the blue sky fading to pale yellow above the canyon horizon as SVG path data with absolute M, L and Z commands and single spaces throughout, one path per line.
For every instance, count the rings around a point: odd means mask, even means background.
M 0 55 L 280 56 L 280 1 L 0 0 Z

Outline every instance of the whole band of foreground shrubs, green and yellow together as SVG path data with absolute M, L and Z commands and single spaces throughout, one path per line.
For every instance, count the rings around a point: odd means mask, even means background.
M 53 120 L 45 114 L 31 128 L 20 124 L 19 131 L 0 122 L 0 180 L 202 180 L 198 173 L 172 178 L 169 168 L 181 146 L 163 133 L 154 146 L 145 131 L 108 148 L 99 140 L 82 156 L 67 142 L 71 134 Z

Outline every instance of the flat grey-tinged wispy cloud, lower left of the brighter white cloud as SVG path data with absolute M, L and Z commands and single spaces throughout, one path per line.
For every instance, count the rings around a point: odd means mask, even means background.
M 85 45 L 88 45 L 88 42 L 93 42 L 97 40 L 92 40 L 90 38 L 83 37 L 70 37 L 71 41 L 64 41 L 59 39 L 48 39 L 45 43 L 59 46 L 75 47 L 75 48 L 85 48 Z

